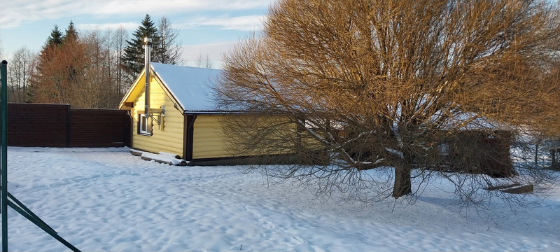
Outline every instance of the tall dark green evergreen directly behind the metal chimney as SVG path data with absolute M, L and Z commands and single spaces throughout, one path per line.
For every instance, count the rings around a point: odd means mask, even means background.
M 159 48 L 160 37 L 158 35 L 158 28 L 155 27 L 154 22 L 151 20 L 150 15 L 146 14 L 141 25 L 132 34 L 130 41 L 127 40 L 127 47 L 125 48 L 125 55 L 122 59 L 123 68 L 128 75 L 130 81 L 140 74 L 144 69 L 144 38 L 152 39 L 151 60 L 159 62 Z

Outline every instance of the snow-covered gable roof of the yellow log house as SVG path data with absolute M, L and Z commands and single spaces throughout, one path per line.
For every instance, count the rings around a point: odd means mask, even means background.
M 216 84 L 222 70 L 204 69 L 191 66 L 176 66 L 151 62 L 153 76 L 167 91 L 170 98 L 176 103 L 178 109 L 183 113 L 217 113 L 214 103 L 214 91 L 212 87 Z M 127 102 L 132 102 L 144 90 L 144 71 L 134 81 L 119 109 L 127 109 Z

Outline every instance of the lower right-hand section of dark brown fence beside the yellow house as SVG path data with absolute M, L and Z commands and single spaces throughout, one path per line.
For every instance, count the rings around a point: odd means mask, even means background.
M 70 147 L 123 147 L 130 143 L 130 116 L 116 109 L 71 109 Z

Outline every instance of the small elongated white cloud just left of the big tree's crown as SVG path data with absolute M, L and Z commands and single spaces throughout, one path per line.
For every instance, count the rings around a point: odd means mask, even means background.
M 193 28 L 200 26 L 217 26 L 220 29 L 235 29 L 241 31 L 253 31 L 262 29 L 262 21 L 265 15 L 248 15 L 230 18 L 227 15 L 214 18 L 199 16 L 188 20 L 179 20 L 179 28 Z

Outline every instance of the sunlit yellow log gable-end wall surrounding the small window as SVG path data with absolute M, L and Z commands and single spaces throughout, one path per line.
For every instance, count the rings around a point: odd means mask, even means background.
M 150 109 L 160 110 L 160 107 L 165 105 L 165 116 L 161 125 L 153 122 L 151 136 L 138 134 L 138 112 L 144 111 L 144 101 L 144 90 L 142 90 L 134 101 L 134 108 L 131 109 L 133 117 L 132 148 L 152 153 L 165 151 L 182 157 L 183 114 L 174 108 L 174 103 L 154 78 L 150 85 Z

